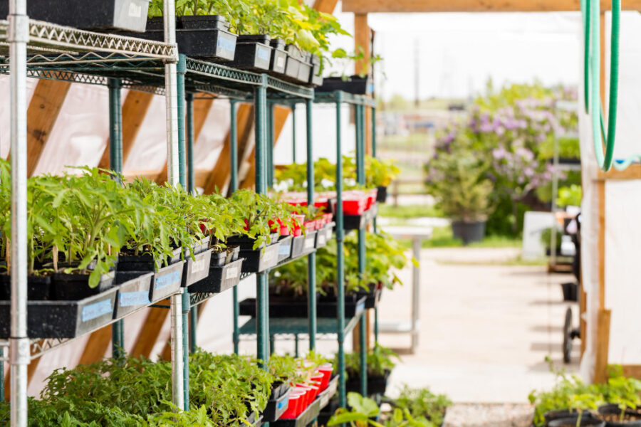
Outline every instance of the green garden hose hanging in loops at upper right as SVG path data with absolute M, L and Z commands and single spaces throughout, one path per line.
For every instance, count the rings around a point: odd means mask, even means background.
M 617 127 L 617 98 L 619 93 L 619 41 L 621 1 L 612 0 L 612 28 L 610 33 L 610 97 L 608 102 L 608 122 L 605 122 L 603 105 L 600 100 L 600 2 L 598 0 L 581 0 L 583 14 L 583 36 L 585 55 L 583 60 L 583 90 L 585 112 L 590 114 L 593 107 L 592 135 L 594 152 L 601 170 L 608 172 L 611 167 L 625 169 L 630 164 L 640 161 L 641 155 L 633 155 L 625 160 L 613 161 L 615 134 Z M 598 105 L 598 115 L 595 107 Z M 603 145 L 605 142 L 605 152 Z

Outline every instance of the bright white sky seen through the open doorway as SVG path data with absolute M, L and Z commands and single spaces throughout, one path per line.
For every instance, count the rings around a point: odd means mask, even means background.
M 335 15 L 353 33 L 353 14 Z M 375 31 L 377 93 L 415 99 L 469 97 L 484 90 L 534 79 L 576 85 L 580 76 L 580 14 L 370 14 Z M 353 39 L 335 43 L 353 50 Z M 417 59 L 418 58 L 418 59 Z

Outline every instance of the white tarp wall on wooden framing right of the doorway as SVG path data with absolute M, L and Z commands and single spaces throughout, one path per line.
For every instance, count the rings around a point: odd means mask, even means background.
M 606 16 L 609 43 L 610 14 Z M 581 35 L 581 40 L 583 36 Z M 641 15 L 625 12 L 621 20 L 620 75 L 615 159 L 641 152 Z M 609 46 L 607 51 L 609 52 Z M 609 56 L 606 58 L 609 61 Z M 609 65 L 609 62 L 607 63 Z M 609 67 L 608 67 L 609 68 Z M 606 73 L 608 73 L 606 68 Z M 580 65 L 583 73 L 583 64 Z M 609 73 L 608 73 L 609 78 Z M 583 87 L 579 85 L 579 99 Z M 595 364 L 595 337 L 599 310 L 599 197 L 590 118 L 579 115 L 583 166 L 582 274 L 588 292 L 588 333 L 581 363 L 583 376 L 591 378 Z M 605 309 L 612 310 L 608 363 L 641 364 L 641 180 L 605 183 Z

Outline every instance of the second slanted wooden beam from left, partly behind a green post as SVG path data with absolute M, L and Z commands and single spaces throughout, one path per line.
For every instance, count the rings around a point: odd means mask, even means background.
M 127 163 L 129 153 L 136 142 L 136 137 L 153 99 L 154 95 L 152 93 L 139 92 L 137 90 L 127 92 L 127 97 L 123 102 L 123 168 Z M 109 169 L 110 166 L 109 138 L 107 138 L 107 146 L 103 151 L 103 157 L 100 158 L 98 167 Z

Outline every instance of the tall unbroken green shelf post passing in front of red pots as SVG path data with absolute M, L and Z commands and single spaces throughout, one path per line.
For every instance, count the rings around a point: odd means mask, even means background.
M 341 147 L 342 121 L 340 107 L 343 93 L 336 93 L 336 298 L 338 300 L 338 395 L 341 408 L 345 408 L 345 260 L 343 259 L 343 155 Z

